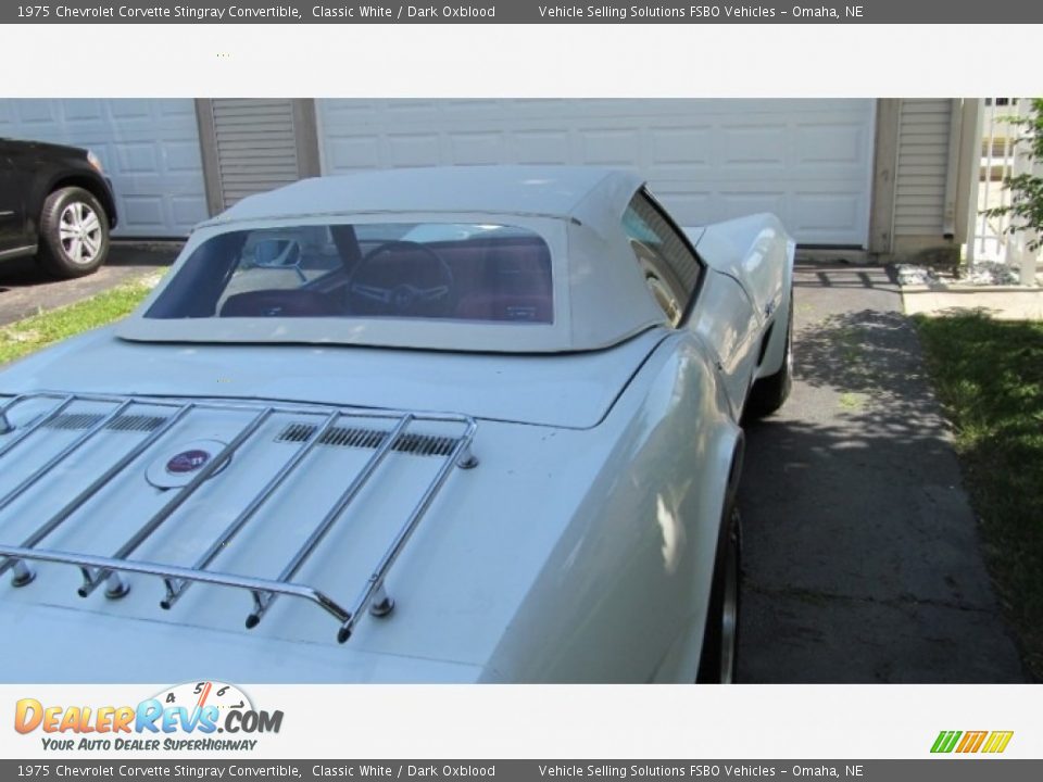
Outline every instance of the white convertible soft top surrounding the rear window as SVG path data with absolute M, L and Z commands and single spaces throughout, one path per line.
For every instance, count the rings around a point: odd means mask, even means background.
M 663 325 L 620 218 L 642 186 L 619 171 L 565 166 L 403 168 L 305 179 L 201 224 L 173 272 L 118 328 L 134 341 L 324 343 L 508 353 L 588 351 Z M 334 223 L 517 226 L 551 252 L 552 323 L 405 317 L 147 317 L 205 241 L 234 230 Z

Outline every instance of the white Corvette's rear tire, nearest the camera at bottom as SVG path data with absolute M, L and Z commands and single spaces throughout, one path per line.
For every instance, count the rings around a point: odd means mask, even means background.
M 731 684 L 739 651 L 739 597 L 742 580 L 742 522 L 734 499 L 728 501 L 717 547 L 714 582 L 706 611 L 699 684 Z

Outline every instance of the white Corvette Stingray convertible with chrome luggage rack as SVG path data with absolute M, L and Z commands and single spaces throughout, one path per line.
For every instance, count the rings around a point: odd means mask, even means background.
M 594 168 L 241 201 L 0 373 L 0 678 L 730 681 L 793 250 Z

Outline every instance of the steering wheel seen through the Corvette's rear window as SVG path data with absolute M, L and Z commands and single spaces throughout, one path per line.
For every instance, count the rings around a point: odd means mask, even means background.
M 417 254 L 431 263 L 416 264 Z M 376 263 L 381 255 L 388 258 Z M 398 257 L 395 257 L 398 255 Z M 394 240 L 363 255 L 348 278 L 353 314 L 444 317 L 456 305 L 456 283 L 449 264 L 419 242 Z

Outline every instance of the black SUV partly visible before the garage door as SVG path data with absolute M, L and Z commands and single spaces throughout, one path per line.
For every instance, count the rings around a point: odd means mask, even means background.
M 0 261 L 36 255 L 55 277 L 96 272 L 116 204 L 87 150 L 0 138 Z

